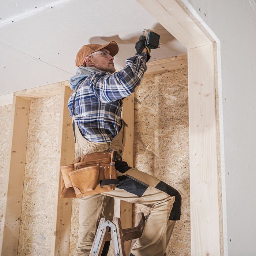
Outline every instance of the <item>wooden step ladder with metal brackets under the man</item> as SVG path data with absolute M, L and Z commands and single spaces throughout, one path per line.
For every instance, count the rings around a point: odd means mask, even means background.
M 105 242 L 110 240 L 112 240 L 114 255 L 125 256 L 124 242 L 132 240 L 131 251 L 135 240 L 142 235 L 147 217 L 148 215 L 145 217 L 143 212 L 139 212 L 137 214 L 136 226 L 129 229 L 122 229 L 120 218 L 113 218 L 113 222 L 106 220 L 106 218 L 101 218 L 93 246 L 91 247 L 90 256 L 101 256 Z

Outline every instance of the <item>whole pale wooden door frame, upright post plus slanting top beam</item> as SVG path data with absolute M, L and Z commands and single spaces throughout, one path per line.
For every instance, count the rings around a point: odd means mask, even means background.
M 191 255 L 223 255 L 219 40 L 188 0 L 136 1 L 188 49 Z

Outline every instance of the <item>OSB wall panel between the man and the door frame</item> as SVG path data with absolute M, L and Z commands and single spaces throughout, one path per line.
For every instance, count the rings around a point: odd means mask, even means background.
M 176 188 L 182 196 L 167 256 L 186 256 L 190 246 L 187 68 L 148 76 L 135 91 L 134 165 Z M 150 208 L 133 206 L 137 212 Z

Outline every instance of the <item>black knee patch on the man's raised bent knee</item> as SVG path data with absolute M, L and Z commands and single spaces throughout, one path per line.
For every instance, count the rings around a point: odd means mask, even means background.
M 171 221 L 178 221 L 180 219 L 181 214 L 181 195 L 180 193 L 171 187 L 170 185 L 166 184 L 163 181 L 160 181 L 155 188 L 165 192 L 169 196 L 175 196 L 175 200 L 172 206 L 172 210 L 169 216 L 169 220 Z

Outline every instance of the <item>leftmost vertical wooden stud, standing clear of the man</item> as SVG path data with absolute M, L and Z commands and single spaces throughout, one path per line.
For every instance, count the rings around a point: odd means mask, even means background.
M 14 93 L 6 192 L 0 235 L 0 248 L 3 256 L 17 255 L 18 252 L 29 108 L 30 100 L 17 97 Z

